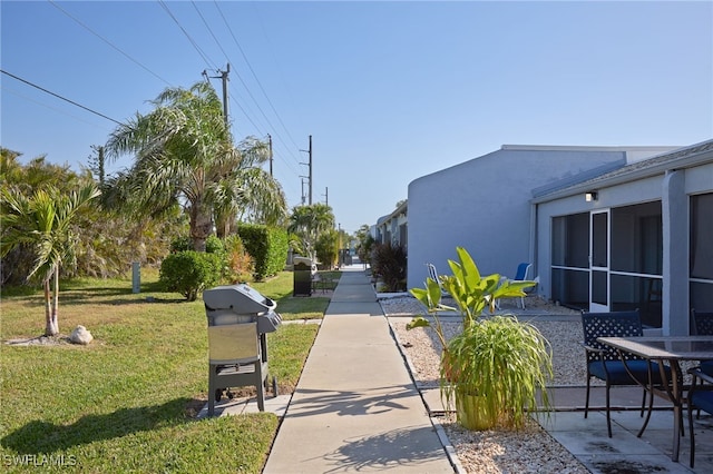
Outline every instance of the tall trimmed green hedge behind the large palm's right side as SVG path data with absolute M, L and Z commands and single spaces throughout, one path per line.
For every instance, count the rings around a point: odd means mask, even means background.
M 287 233 L 284 229 L 256 224 L 237 228 L 245 250 L 255 263 L 254 277 L 262 280 L 284 269 L 287 260 Z

